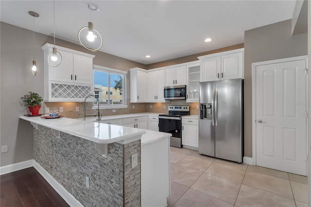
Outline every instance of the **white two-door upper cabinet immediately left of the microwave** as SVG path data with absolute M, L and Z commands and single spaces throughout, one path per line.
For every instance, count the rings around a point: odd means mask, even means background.
M 164 102 L 165 70 L 147 72 L 147 101 Z

